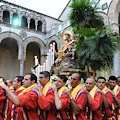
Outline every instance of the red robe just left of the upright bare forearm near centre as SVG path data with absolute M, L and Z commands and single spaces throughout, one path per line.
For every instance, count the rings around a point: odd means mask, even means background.
M 39 97 L 38 104 L 40 106 L 40 109 L 43 110 L 43 119 L 44 120 L 56 120 L 54 92 L 52 89 L 48 89 L 46 96 L 42 94 Z

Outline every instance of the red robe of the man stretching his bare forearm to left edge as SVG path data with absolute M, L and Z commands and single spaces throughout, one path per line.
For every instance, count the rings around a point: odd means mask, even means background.
M 38 93 L 36 90 L 30 90 L 24 95 L 19 96 L 20 107 L 23 107 L 22 114 L 19 115 L 19 120 L 40 120 L 38 115 Z

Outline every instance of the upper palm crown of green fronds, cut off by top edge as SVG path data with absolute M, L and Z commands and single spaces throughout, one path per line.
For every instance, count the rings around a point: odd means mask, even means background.
M 73 0 L 71 12 L 68 19 L 71 23 L 73 31 L 76 32 L 82 28 L 100 29 L 104 23 L 103 18 L 98 14 L 98 3 L 92 3 L 90 0 Z

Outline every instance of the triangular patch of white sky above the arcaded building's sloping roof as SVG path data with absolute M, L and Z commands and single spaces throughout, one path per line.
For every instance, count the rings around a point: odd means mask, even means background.
M 8 2 L 58 18 L 69 0 L 6 0 Z

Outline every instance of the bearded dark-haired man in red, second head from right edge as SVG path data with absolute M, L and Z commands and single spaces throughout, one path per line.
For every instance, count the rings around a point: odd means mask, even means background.
M 117 85 L 117 78 L 115 76 L 109 77 L 109 86 L 115 103 L 116 119 L 120 120 L 120 88 Z

